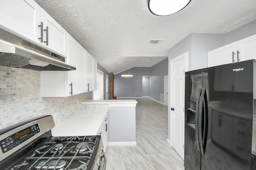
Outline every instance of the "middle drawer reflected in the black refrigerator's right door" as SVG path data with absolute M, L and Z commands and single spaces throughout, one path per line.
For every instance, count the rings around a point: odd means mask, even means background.
M 250 144 L 252 142 L 252 133 L 246 127 L 234 125 L 233 138 L 242 143 Z

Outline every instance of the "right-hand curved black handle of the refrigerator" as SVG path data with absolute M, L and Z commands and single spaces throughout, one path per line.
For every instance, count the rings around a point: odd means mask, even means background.
M 206 144 L 207 144 L 207 136 L 208 136 L 208 103 L 207 103 L 207 94 L 205 88 L 203 88 L 202 94 L 203 94 L 203 111 L 204 111 L 204 129 L 203 129 L 203 137 L 200 141 L 200 147 L 201 153 L 204 154 L 206 150 Z

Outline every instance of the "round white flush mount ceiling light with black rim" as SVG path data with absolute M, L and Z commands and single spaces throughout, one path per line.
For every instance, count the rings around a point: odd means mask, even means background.
M 191 0 L 148 0 L 148 9 L 157 16 L 168 16 L 185 8 Z

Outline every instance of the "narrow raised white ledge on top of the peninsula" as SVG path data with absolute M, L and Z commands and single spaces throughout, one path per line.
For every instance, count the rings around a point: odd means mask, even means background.
M 137 104 L 136 100 L 86 100 L 82 104 Z

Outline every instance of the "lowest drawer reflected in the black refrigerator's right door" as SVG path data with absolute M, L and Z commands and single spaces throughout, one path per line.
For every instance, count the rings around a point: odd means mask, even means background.
M 251 147 L 245 143 L 233 140 L 232 151 L 242 158 L 248 159 L 251 156 Z

